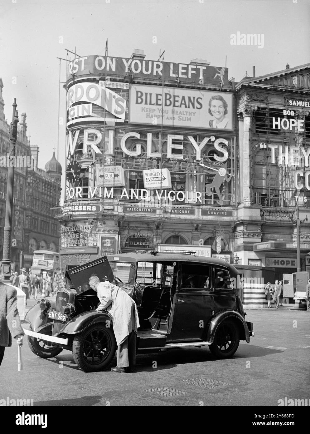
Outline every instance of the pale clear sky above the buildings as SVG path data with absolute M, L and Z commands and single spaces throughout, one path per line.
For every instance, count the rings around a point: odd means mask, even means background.
M 264 35 L 264 47 L 231 45 L 231 35 Z M 157 43 L 153 43 L 156 36 Z M 0 77 L 5 115 L 13 98 L 27 114 L 27 135 L 39 146 L 39 167 L 57 153 L 59 60 L 66 49 L 80 56 L 146 59 L 165 50 L 164 60 L 199 58 L 225 66 L 228 78 L 256 76 L 310 62 L 309 0 L 0 0 Z M 63 43 L 62 43 L 63 41 Z M 14 77 L 16 77 L 16 84 Z M 61 81 L 65 81 L 62 62 Z M 60 114 L 65 117 L 61 87 Z M 59 160 L 65 168 L 65 127 L 59 131 Z

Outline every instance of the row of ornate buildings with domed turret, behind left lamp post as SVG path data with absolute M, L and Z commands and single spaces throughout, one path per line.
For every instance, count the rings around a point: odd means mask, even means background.
M 3 256 L 3 228 L 7 201 L 10 153 L 10 124 L 4 116 L 3 82 L 0 79 L 0 258 Z M 55 154 L 45 170 L 38 168 L 37 146 L 26 135 L 26 113 L 17 128 L 12 220 L 12 270 L 32 265 L 34 250 L 59 249 L 59 221 L 51 210 L 59 204 L 61 166 Z

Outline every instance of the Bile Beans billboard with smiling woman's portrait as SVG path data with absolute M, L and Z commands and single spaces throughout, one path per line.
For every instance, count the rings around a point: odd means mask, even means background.
M 129 123 L 232 130 L 232 94 L 131 85 Z

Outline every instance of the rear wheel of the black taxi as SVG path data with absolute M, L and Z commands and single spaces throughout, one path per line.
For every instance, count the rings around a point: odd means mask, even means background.
M 220 323 L 209 349 L 217 358 L 229 358 L 235 354 L 240 343 L 238 326 L 231 320 Z

